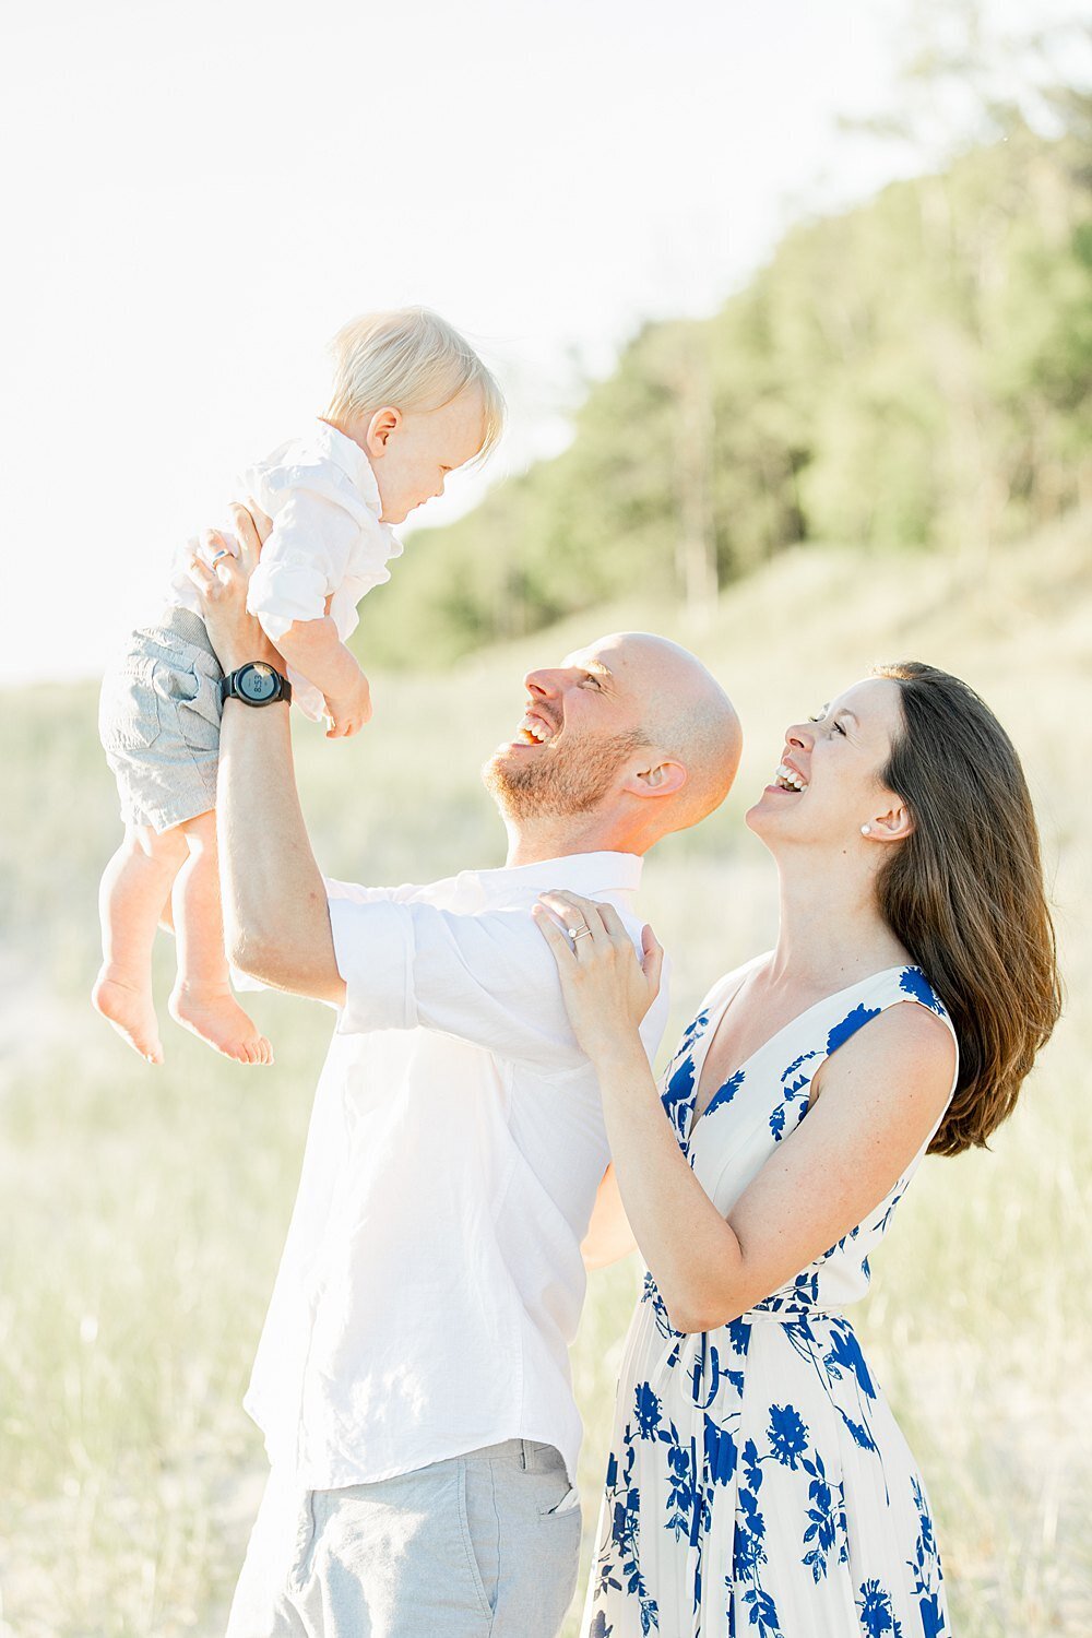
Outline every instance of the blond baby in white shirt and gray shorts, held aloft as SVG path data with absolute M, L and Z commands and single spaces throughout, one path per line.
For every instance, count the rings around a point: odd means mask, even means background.
M 273 532 L 247 606 L 283 655 L 291 698 L 327 739 L 372 716 L 368 680 L 345 647 L 357 603 L 390 580 L 390 526 L 444 493 L 449 472 L 496 444 L 501 391 L 462 336 L 424 308 L 367 314 L 334 339 L 323 416 L 244 475 Z M 216 541 L 237 549 L 232 537 Z M 167 608 L 110 668 L 100 732 L 116 775 L 124 840 L 100 886 L 103 965 L 92 999 L 149 1063 L 162 1063 L 151 955 L 174 922 L 170 1016 L 239 1063 L 273 1055 L 231 993 L 216 868 L 221 668 L 180 554 Z M 211 552 L 206 550 L 206 560 Z

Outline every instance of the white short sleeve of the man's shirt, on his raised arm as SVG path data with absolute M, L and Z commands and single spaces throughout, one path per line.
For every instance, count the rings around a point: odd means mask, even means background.
M 347 989 L 339 1034 L 434 1029 L 539 1068 L 586 1063 L 529 911 L 457 916 L 434 904 L 331 899 L 329 914 Z M 661 1009 L 653 1012 L 658 1040 Z M 642 1029 L 647 1047 L 650 1032 Z

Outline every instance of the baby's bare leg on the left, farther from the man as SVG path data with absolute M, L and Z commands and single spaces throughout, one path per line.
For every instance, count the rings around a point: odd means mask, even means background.
M 92 1001 L 149 1063 L 164 1061 L 152 1002 L 152 943 L 185 857 L 185 837 L 178 830 L 159 835 L 151 826 L 131 826 L 98 889 L 103 965 Z

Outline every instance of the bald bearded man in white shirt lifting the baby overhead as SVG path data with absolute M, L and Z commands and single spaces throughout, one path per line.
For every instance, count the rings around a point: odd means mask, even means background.
M 193 565 L 228 673 L 229 953 L 339 1017 L 246 1400 L 272 1474 L 229 1638 L 553 1638 L 580 1545 L 568 1343 L 609 1156 L 530 907 L 548 888 L 599 898 L 640 942 L 640 857 L 722 801 L 738 722 L 686 650 L 607 637 L 526 678 L 485 768 L 504 870 L 324 883 L 288 709 L 252 709 L 280 657 L 246 614 L 255 523 L 237 509 L 234 527 L 239 562 Z M 268 670 L 237 675 L 254 662 Z

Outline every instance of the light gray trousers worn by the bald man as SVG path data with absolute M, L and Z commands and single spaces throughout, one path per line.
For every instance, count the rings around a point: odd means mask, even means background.
M 552 1445 L 300 1491 L 272 1473 L 226 1638 L 557 1638 L 580 1502 Z

